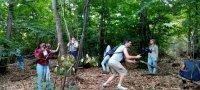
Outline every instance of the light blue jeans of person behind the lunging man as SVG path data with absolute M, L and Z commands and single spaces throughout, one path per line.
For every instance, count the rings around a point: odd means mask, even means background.
M 108 60 L 110 59 L 109 55 L 106 55 L 101 62 L 101 66 L 103 68 L 103 71 L 109 72 L 109 66 L 108 66 Z

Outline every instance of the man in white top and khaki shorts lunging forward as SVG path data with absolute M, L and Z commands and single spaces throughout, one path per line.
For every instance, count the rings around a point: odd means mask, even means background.
M 128 53 L 128 48 L 131 46 L 131 41 L 126 40 L 124 42 L 124 45 L 121 45 L 117 48 L 115 53 L 112 55 L 112 57 L 108 61 L 108 65 L 110 67 L 110 70 L 112 72 L 112 75 L 108 78 L 108 80 L 103 83 L 102 87 L 105 88 L 108 86 L 108 83 L 112 81 L 116 76 L 119 76 L 119 82 L 116 87 L 116 89 L 120 90 L 127 90 L 127 88 L 122 86 L 122 82 L 124 77 L 127 75 L 127 70 L 122 66 L 120 61 L 125 57 L 125 61 L 129 63 L 135 63 L 135 59 L 140 58 L 140 55 L 137 56 L 131 56 Z

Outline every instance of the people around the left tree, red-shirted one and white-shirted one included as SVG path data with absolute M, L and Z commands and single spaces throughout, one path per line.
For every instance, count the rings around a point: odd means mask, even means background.
M 67 46 L 69 47 L 69 53 L 74 56 L 74 58 L 77 57 L 78 51 L 78 41 L 75 39 L 75 37 L 72 37 L 72 39 L 68 42 Z M 34 56 L 36 58 L 36 71 L 37 71 L 37 87 L 38 90 L 43 90 L 42 87 L 42 81 L 44 79 L 45 82 L 47 82 L 47 89 L 53 90 L 53 87 L 51 85 L 51 79 L 50 79 L 50 59 L 52 57 L 53 53 L 58 52 L 60 47 L 60 44 L 58 43 L 57 49 L 52 50 L 50 44 L 46 44 L 44 42 L 41 42 L 39 44 L 38 49 L 34 51 Z

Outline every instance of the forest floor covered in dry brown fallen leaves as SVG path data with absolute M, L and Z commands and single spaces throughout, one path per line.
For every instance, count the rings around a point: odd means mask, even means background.
M 0 75 L 0 90 L 34 90 L 37 82 L 36 70 L 30 66 L 31 61 L 25 60 L 25 72 L 19 73 L 16 63 L 9 64 L 7 73 Z M 55 63 L 53 60 L 52 63 Z M 159 63 L 164 71 L 178 74 L 179 67 L 171 67 L 171 63 Z M 128 90 L 182 90 L 181 80 L 171 75 L 163 74 L 158 70 L 155 76 L 147 75 L 146 69 L 138 69 L 136 64 L 125 64 L 128 69 L 128 76 L 125 78 L 123 85 Z M 111 74 L 102 74 L 101 68 L 91 67 L 79 69 L 76 73 L 75 90 L 101 90 L 101 84 L 105 82 Z M 51 72 L 52 83 L 56 82 L 56 90 L 61 90 L 63 76 L 56 76 Z M 109 84 L 105 90 L 114 90 L 118 79 Z M 196 86 L 190 84 L 189 90 L 196 90 Z M 65 90 L 68 90 L 65 87 Z

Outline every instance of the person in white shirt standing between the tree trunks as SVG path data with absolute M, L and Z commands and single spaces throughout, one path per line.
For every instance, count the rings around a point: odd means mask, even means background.
M 73 55 L 74 58 L 76 59 L 78 55 L 78 41 L 76 40 L 76 37 L 73 36 L 71 40 L 67 44 L 68 49 L 69 49 L 69 54 Z

